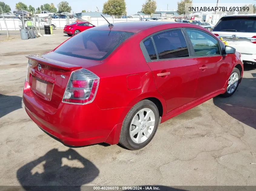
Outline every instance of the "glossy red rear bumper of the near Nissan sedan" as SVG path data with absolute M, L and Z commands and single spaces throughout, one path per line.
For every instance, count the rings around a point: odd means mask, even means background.
M 23 102 L 28 116 L 66 145 L 118 143 L 121 131 L 118 120 L 125 108 L 101 110 L 92 102 L 86 105 L 60 103 L 57 109 L 53 109 L 27 87 L 23 91 Z

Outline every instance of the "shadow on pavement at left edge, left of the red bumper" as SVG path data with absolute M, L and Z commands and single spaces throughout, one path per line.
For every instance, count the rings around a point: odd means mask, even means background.
M 22 108 L 22 97 L 0 94 L 0 118 Z

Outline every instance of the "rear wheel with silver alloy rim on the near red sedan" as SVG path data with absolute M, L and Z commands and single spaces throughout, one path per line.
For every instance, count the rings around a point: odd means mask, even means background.
M 159 112 L 157 106 L 150 100 L 142 100 L 136 103 L 125 116 L 119 143 L 130 150 L 141 149 L 152 140 L 158 124 Z

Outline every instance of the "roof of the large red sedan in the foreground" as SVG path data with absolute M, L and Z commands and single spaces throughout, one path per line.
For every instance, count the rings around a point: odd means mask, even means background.
M 116 31 L 126 31 L 126 32 L 133 32 L 136 33 L 142 29 L 146 29 L 149 27 L 154 27 L 156 25 L 161 24 L 172 24 L 177 22 L 170 22 L 170 21 L 158 21 L 158 22 L 147 22 L 147 21 L 133 21 L 133 22 L 122 22 L 122 23 L 114 23 L 114 27 L 111 30 Z M 94 27 L 93 29 L 89 30 L 109 30 L 108 24 L 100 25 L 98 27 Z

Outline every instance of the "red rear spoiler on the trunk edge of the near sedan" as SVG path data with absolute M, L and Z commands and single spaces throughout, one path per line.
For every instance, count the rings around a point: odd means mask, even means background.
M 40 62 L 42 64 L 53 66 L 62 70 L 67 70 L 67 71 L 73 71 L 73 70 L 82 68 L 81 66 L 78 66 L 78 65 L 72 65 L 65 62 L 44 58 L 41 55 L 26 55 L 25 57 L 28 59 L 32 59 L 35 62 Z

